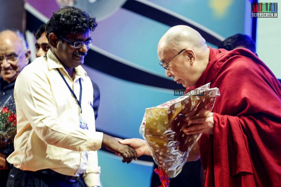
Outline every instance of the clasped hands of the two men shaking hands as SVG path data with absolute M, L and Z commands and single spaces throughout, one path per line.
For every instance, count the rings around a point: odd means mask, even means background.
M 138 138 L 122 140 L 103 134 L 101 146 L 115 152 L 118 156 L 122 156 L 122 162 L 127 162 L 127 164 L 133 159 L 137 160 L 137 157 L 141 155 L 150 155 L 149 148 L 145 141 Z

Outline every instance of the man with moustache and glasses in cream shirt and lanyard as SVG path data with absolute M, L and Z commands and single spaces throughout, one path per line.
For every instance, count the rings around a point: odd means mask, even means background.
M 92 43 L 95 18 L 75 8 L 54 13 L 46 26 L 51 49 L 18 76 L 14 165 L 7 186 L 100 186 L 101 146 L 131 162 L 136 153 L 95 131 L 90 78 L 80 66 Z

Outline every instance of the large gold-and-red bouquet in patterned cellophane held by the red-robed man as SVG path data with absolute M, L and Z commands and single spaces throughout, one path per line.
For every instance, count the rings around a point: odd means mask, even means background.
M 182 126 L 190 119 L 207 116 L 213 109 L 218 88 L 209 88 L 210 83 L 197 89 L 204 90 L 201 96 L 183 95 L 146 108 L 140 134 L 150 148 L 159 169 L 162 186 L 169 184 L 168 178 L 176 177 L 186 162 L 189 151 L 201 134 L 186 135 Z

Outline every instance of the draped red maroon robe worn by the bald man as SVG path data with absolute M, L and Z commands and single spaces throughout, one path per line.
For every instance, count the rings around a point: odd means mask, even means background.
M 221 96 L 213 109 L 214 134 L 199 140 L 205 186 L 280 187 L 279 81 L 247 49 L 210 48 L 206 70 L 192 88 L 209 82 Z

